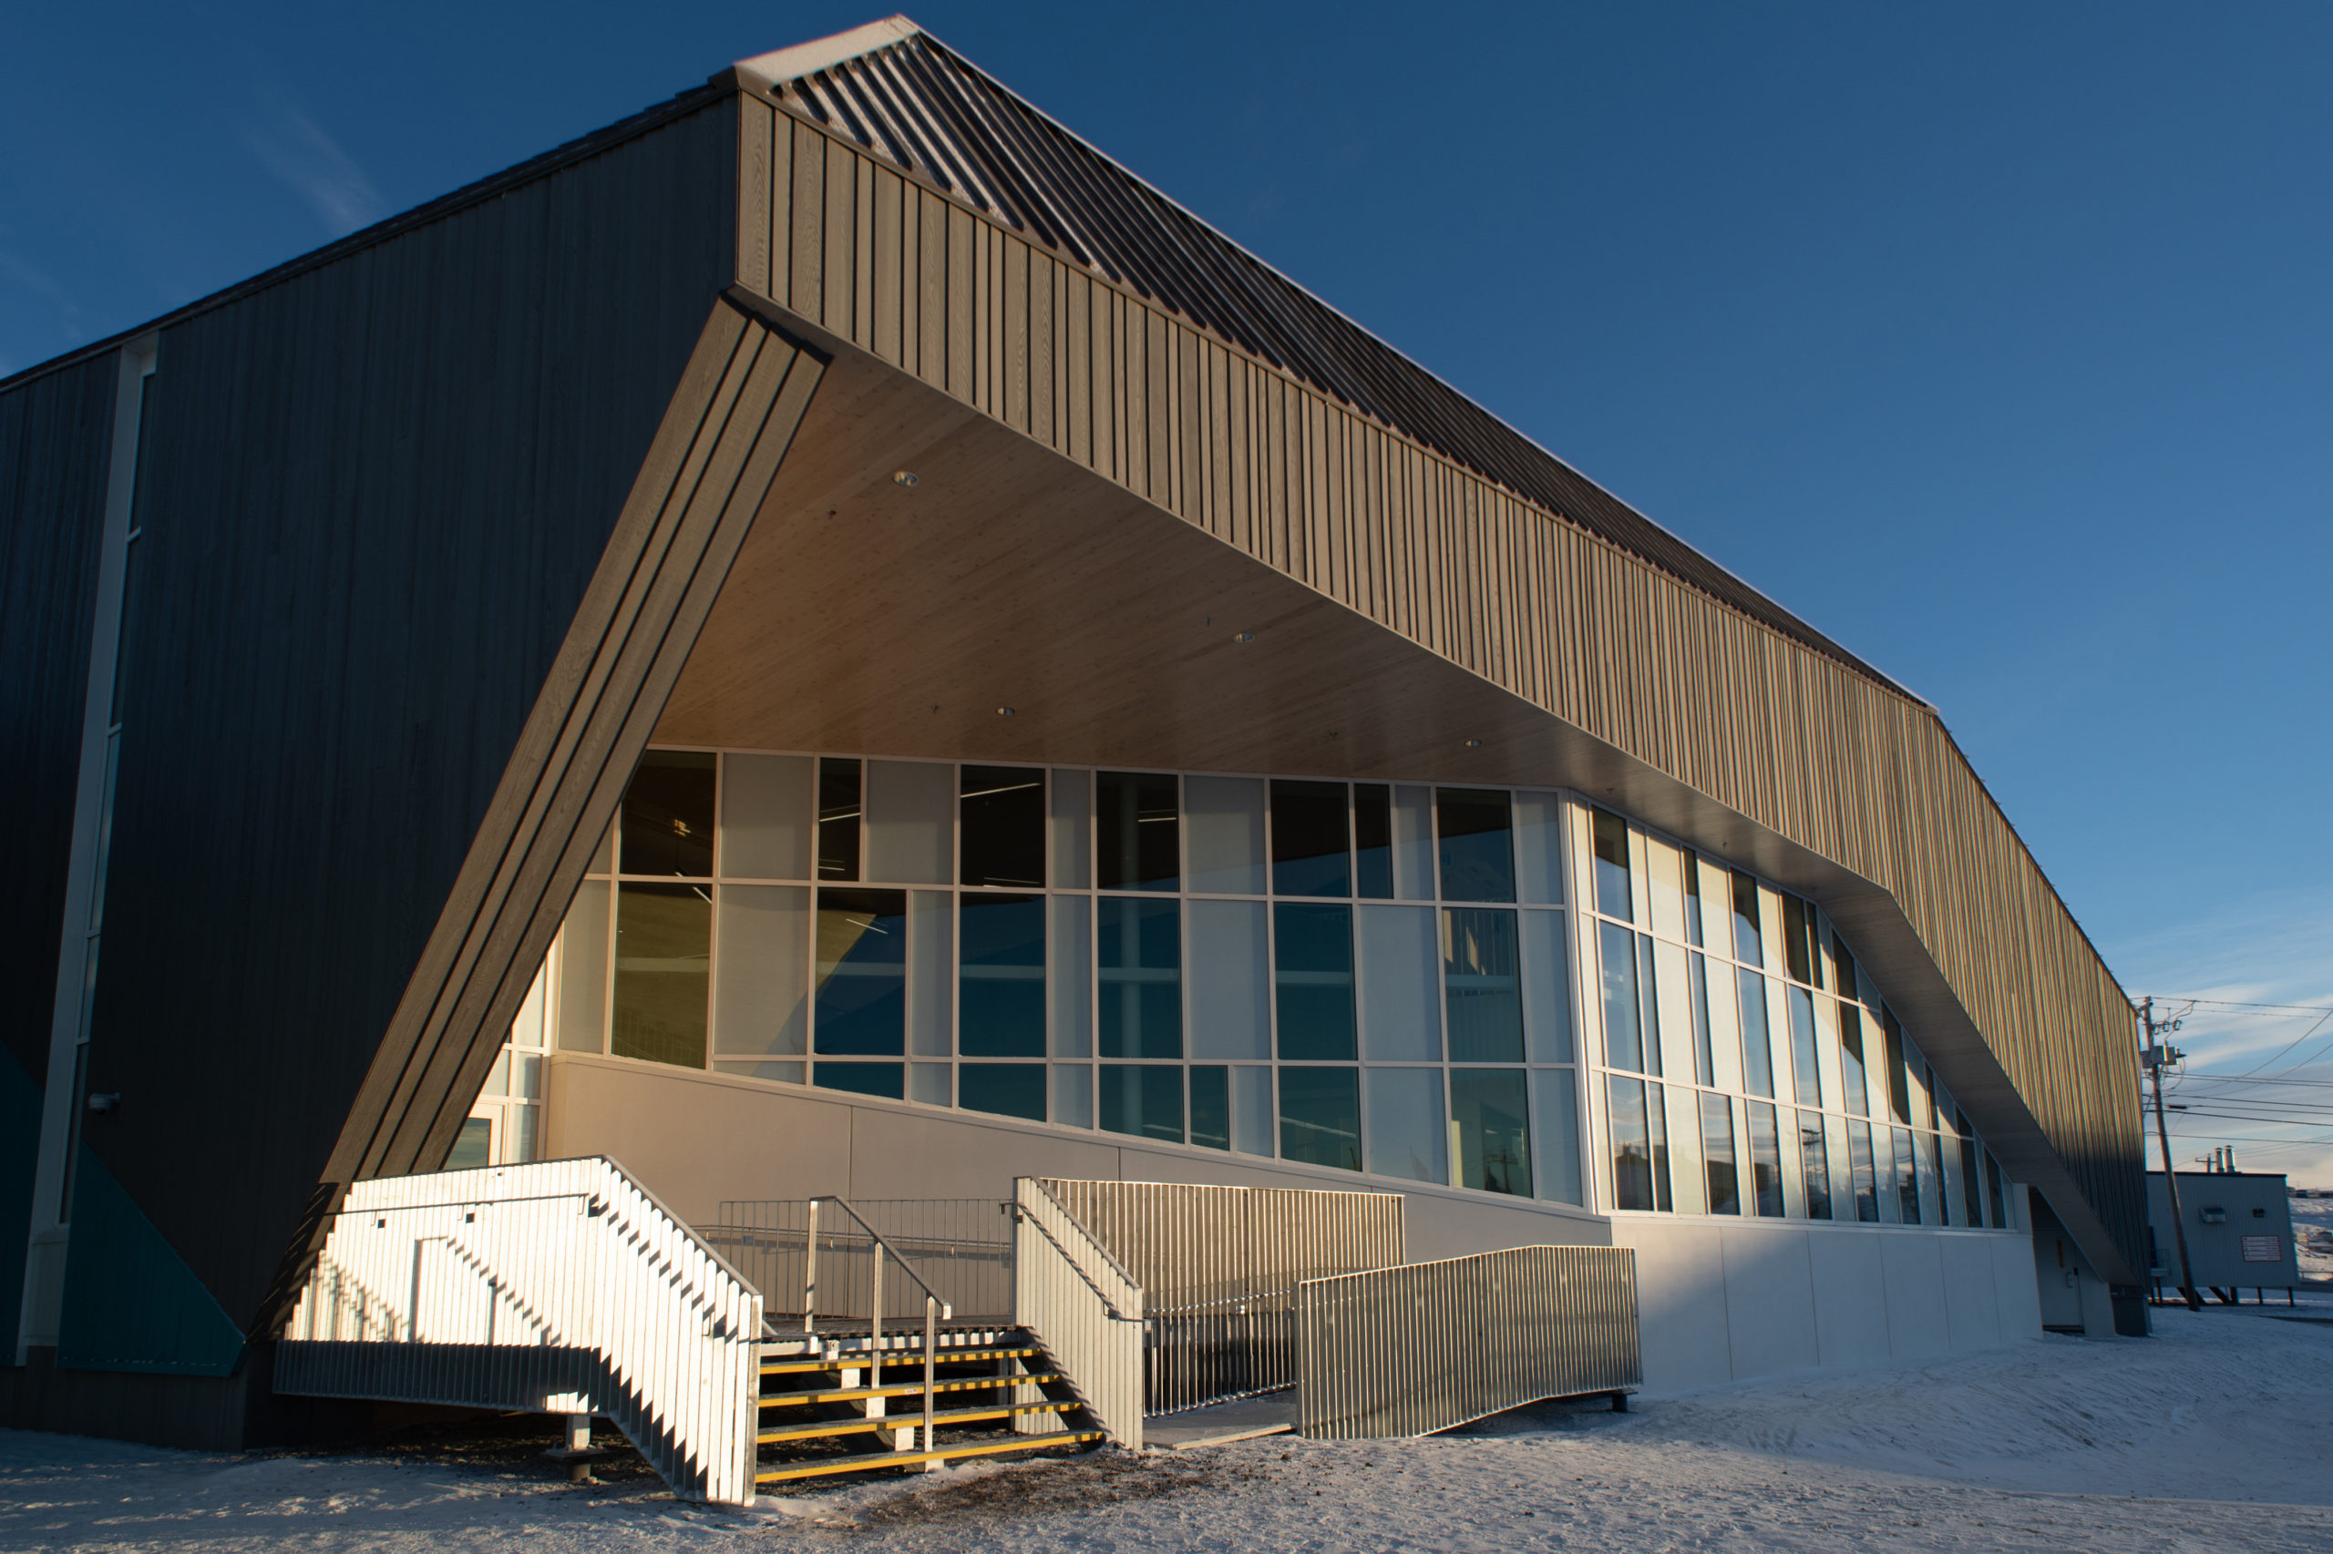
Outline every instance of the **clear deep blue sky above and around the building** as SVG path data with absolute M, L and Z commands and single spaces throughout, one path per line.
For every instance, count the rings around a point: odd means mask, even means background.
M 875 14 L 19 9 L 0 373 Z M 2333 1139 L 2333 1022 L 2233 1008 L 2333 1003 L 2333 9 L 912 14 L 1936 702 L 2123 985 L 2230 1006 L 2191 1069 Z

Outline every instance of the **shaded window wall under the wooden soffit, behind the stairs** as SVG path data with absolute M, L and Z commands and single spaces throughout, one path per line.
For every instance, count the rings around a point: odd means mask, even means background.
M 562 931 L 558 1045 L 1579 1204 L 1563 814 L 656 749 Z

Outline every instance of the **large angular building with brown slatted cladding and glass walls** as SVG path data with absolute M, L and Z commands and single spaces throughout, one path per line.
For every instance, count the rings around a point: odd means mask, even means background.
M 2128 1003 L 1936 712 L 912 23 L 0 460 L 14 1419 L 252 1437 L 345 1183 L 576 1153 L 1402 1190 L 1635 1246 L 1652 1384 L 2032 1332 L 2044 1223 L 2144 1330 Z

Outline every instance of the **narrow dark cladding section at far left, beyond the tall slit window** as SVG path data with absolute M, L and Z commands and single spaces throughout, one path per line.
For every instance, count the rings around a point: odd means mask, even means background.
M 72 796 L 119 359 L 103 352 L 0 394 L 0 793 L 19 817 L 0 891 L 0 1048 L 49 1073 Z M 14 1311 L 16 1293 L 0 1297 Z

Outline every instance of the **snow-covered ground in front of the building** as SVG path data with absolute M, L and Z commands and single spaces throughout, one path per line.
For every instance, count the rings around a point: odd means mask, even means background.
M 637 1468 L 569 1486 L 534 1440 L 229 1458 L 0 1433 L 0 1549 L 2333 1549 L 2333 1300 L 2163 1309 L 2156 1332 L 1435 1440 L 964 1468 L 754 1512 L 677 1505 Z

